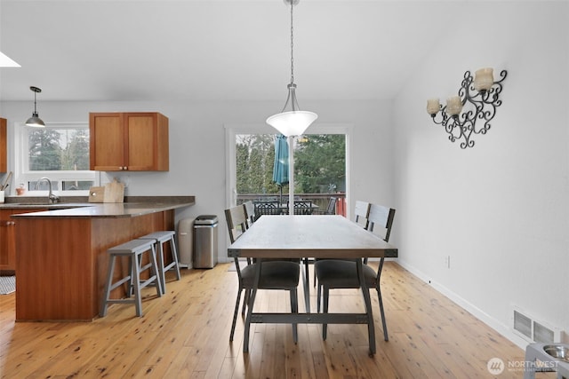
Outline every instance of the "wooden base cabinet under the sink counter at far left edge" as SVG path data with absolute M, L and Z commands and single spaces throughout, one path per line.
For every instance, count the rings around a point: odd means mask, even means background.
M 38 212 L 47 209 L 0 209 L 0 272 L 16 271 L 16 220 L 10 216 L 18 213 Z

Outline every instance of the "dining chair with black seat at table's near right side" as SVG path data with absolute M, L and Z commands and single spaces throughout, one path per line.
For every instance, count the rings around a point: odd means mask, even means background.
M 395 217 L 395 209 L 384 207 L 381 205 L 371 204 L 368 213 L 367 230 L 373 233 L 374 228 L 382 227 L 384 229 L 383 240 L 389 242 L 391 227 Z M 377 233 L 377 230 L 376 230 Z M 377 291 L 378 301 L 380 304 L 381 323 L 383 326 L 383 337 L 385 341 L 389 341 L 388 328 L 385 320 L 385 312 L 381 299 L 381 269 L 383 268 L 384 258 L 381 257 L 377 272 L 372 267 L 365 264 L 362 265 L 364 270 L 364 280 L 369 292 L 369 288 L 375 288 Z M 314 265 L 317 274 L 318 291 L 317 291 L 317 311 L 320 312 L 320 298 L 323 299 L 323 312 L 328 312 L 328 299 L 330 289 L 335 288 L 360 288 L 360 282 L 357 274 L 357 263 L 354 259 L 323 259 L 317 260 Z M 326 339 L 327 324 L 322 325 L 322 336 Z

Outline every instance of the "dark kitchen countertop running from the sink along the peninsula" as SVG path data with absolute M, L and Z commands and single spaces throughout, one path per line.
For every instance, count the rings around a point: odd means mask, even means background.
M 138 217 L 196 203 L 194 196 L 131 196 L 125 197 L 124 202 L 88 202 L 86 196 L 84 201 L 79 197 L 62 200 L 64 202 L 47 204 L 45 197 L 39 200 L 31 197 L 7 198 L 0 209 L 49 209 L 12 217 Z

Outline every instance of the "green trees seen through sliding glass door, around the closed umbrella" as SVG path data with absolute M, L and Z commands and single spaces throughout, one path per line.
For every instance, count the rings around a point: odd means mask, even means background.
M 280 193 L 272 181 L 275 135 L 236 137 L 237 193 Z M 331 193 L 346 189 L 346 137 L 309 135 L 294 149 L 295 193 Z M 288 193 L 288 186 L 283 187 Z

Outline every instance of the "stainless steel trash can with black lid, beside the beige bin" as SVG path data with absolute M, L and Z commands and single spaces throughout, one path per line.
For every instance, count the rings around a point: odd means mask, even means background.
M 217 265 L 217 225 L 215 215 L 202 215 L 194 220 L 194 268 Z

